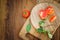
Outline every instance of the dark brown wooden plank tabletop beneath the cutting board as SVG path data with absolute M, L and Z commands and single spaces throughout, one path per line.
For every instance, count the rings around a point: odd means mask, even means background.
M 7 1 L 7 4 L 5 4 L 6 1 Z M 5 14 L 6 11 L 5 12 L 1 11 L 2 13 L 4 12 L 3 14 L 7 16 L 7 18 L 5 19 L 5 16 L 1 13 L 3 16 L 2 15 L 0 16 L 2 17 L 0 20 L 0 40 L 23 40 L 21 37 L 19 37 L 19 32 L 26 21 L 26 19 L 22 17 L 24 1 L 25 0 L 1 0 L 0 1 L 1 3 L 0 10 L 2 9 L 5 11 L 5 6 L 7 6 L 7 9 L 8 9 L 7 15 Z M 34 1 L 33 3 L 35 5 Z M 31 6 L 29 10 L 31 10 L 32 7 L 33 6 Z M 5 24 L 5 27 L 3 27 L 4 24 Z M 39 40 L 38 38 L 30 34 L 28 34 L 28 38 L 29 40 Z M 60 27 L 55 32 L 52 40 L 60 40 Z

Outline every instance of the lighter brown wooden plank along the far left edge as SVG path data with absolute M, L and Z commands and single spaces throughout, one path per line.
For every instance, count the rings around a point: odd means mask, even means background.
M 5 39 L 5 19 L 7 13 L 7 0 L 0 0 L 0 40 Z

